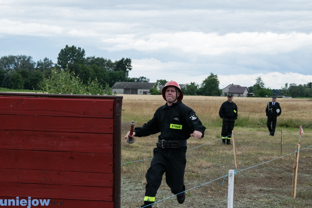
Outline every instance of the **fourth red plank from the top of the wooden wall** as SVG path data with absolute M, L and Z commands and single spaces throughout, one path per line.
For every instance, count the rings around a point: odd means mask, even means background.
M 0 167 L 9 169 L 113 173 L 113 155 L 2 149 L 0 150 Z

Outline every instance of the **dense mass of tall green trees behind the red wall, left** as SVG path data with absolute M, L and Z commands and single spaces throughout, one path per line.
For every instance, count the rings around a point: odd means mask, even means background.
M 98 86 L 105 89 L 112 87 L 115 82 L 149 82 L 149 79 L 143 76 L 129 77 L 130 70 L 132 70 L 130 58 L 112 61 L 103 57 L 85 57 L 84 49 L 66 45 L 58 54 L 57 63 L 48 58 L 36 62 L 31 56 L 26 55 L 2 56 L 0 87 L 45 91 L 49 89 L 50 92 L 53 89 L 55 93 L 61 93 L 57 92 L 60 90 L 57 88 L 64 85 L 62 93 L 76 94 L 76 91 L 66 90 L 73 89 L 68 85 L 86 89 L 92 83 L 93 88 Z M 60 80 L 62 76 L 67 80 Z

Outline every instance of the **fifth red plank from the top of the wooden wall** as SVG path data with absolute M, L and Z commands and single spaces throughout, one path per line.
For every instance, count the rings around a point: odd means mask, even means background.
M 75 186 L 113 187 L 112 173 L 69 172 L 0 168 L 2 183 L 39 183 Z

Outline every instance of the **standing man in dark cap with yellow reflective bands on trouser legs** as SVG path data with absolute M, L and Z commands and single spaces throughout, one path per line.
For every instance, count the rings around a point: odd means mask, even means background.
M 231 135 L 235 120 L 237 119 L 237 106 L 232 99 L 233 94 L 228 94 L 227 101 L 222 103 L 219 110 L 219 116 L 223 120 L 221 131 L 222 144 L 225 144 L 225 140 L 227 140 L 227 144 L 232 144 Z

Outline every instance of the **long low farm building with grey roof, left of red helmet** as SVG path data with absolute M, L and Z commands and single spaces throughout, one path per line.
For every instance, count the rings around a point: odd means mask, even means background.
M 112 87 L 112 93 L 117 94 L 150 94 L 150 89 L 152 89 L 156 83 L 148 82 L 116 82 Z M 156 86 L 159 90 L 159 87 Z

